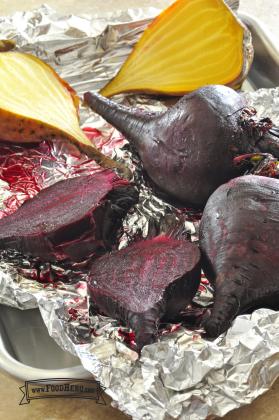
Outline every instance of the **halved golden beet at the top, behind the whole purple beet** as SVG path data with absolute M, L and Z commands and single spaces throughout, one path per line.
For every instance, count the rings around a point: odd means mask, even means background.
M 208 84 L 238 87 L 253 58 L 249 38 L 222 0 L 178 0 L 147 27 L 101 94 L 183 95 Z

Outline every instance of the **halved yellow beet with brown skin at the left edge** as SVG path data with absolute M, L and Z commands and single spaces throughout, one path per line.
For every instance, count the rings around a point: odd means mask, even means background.
M 117 168 L 79 126 L 79 98 L 46 63 L 30 54 L 0 53 L 0 139 L 33 143 L 69 140 L 105 167 Z

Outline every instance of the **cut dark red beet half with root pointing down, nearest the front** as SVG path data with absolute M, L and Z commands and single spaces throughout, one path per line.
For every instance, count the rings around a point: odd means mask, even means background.
M 156 340 L 160 320 L 175 321 L 191 302 L 200 274 L 195 244 L 157 236 L 98 258 L 88 286 L 99 312 L 134 330 L 140 351 Z

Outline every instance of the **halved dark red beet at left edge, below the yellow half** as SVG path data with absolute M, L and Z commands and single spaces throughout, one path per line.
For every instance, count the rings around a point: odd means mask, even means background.
M 59 181 L 0 220 L 0 249 L 42 261 L 82 261 L 104 253 L 137 197 L 110 170 Z

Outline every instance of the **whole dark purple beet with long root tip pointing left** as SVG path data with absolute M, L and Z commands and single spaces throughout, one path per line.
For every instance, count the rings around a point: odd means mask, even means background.
M 269 119 L 255 123 L 244 98 L 226 86 L 206 86 L 165 112 L 129 109 L 87 92 L 85 102 L 121 131 L 137 150 L 159 190 L 201 208 L 210 194 L 244 173 L 236 156 L 267 152 L 279 157 L 279 134 Z

